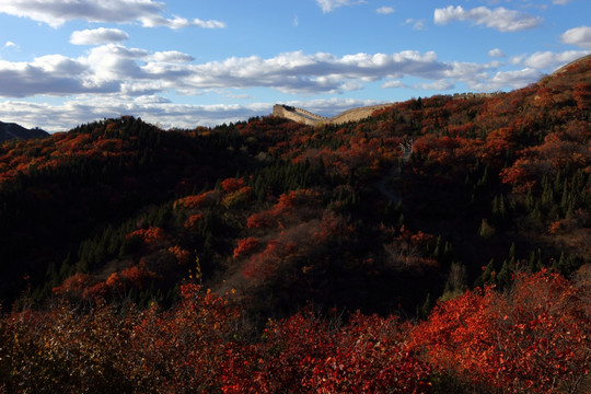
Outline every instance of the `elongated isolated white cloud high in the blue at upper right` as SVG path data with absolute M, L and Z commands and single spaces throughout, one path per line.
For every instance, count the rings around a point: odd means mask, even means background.
M 449 5 L 444 9 L 436 9 L 434 23 L 444 25 L 456 21 L 471 21 L 476 25 L 486 25 L 500 32 L 518 32 L 534 28 L 542 23 L 542 19 L 530 14 L 499 7 L 490 10 L 486 7 L 478 7 L 472 10 L 464 10 L 461 5 Z

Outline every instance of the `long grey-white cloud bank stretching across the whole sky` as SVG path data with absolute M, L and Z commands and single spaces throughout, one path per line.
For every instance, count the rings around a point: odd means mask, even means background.
M 72 35 L 78 43 L 120 39 L 120 31 L 84 31 Z M 36 95 L 119 94 L 140 97 L 175 92 L 195 96 L 215 90 L 267 88 L 286 94 L 340 94 L 382 81 L 384 88 L 402 88 L 405 78 L 426 80 L 426 90 L 450 90 L 465 83 L 471 90 L 495 91 L 521 88 L 549 70 L 570 62 L 590 50 L 540 51 L 512 58 L 521 70 L 495 73 L 499 61 L 489 63 L 447 62 L 434 51 L 403 50 L 394 54 L 292 51 L 270 58 L 231 57 L 195 63 L 187 54 L 167 50 L 150 53 L 120 44 L 91 48 L 85 56 L 68 58 L 48 55 L 30 62 L 0 60 L 0 96 L 22 99 Z M 499 49 L 491 57 L 502 56 Z M 395 82 L 392 82 L 395 81 Z

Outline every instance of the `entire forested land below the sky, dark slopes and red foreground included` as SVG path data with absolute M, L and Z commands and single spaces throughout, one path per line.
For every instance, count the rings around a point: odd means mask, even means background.
M 586 393 L 591 59 L 344 125 L 0 146 L 0 393 Z

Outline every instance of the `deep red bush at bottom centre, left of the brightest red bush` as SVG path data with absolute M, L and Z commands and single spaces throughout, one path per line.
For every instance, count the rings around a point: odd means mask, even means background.
M 257 360 L 257 362 L 254 362 Z M 356 314 L 341 328 L 298 313 L 265 329 L 248 357 L 232 352 L 225 393 L 427 393 L 429 368 L 395 318 Z

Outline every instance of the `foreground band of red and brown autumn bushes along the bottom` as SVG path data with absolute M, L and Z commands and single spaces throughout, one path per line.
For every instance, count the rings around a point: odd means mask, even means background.
M 590 382 L 589 271 L 520 274 L 416 324 L 302 311 L 259 339 L 216 296 L 181 287 L 172 310 L 13 312 L 0 321 L 0 390 L 202 393 L 582 393 Z M 9 367 L 10 366 L 10 367 Z M 103 389 L 102 389 L 103 387 Z

